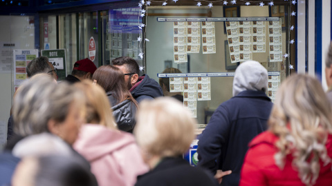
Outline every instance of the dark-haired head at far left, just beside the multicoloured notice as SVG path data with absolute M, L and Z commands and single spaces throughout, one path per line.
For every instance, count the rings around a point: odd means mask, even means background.
M 57 80 L 57 69 L 48 61 L 46 56 L 39 56 L 26 66 L 26 75 L 28 78 L 40 73 L 50 74 Z

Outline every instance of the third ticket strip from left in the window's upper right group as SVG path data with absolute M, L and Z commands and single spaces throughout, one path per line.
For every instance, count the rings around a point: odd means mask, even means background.
M 252 52 L 266 52 L 265 25 L 265 21 L 252 21 Z

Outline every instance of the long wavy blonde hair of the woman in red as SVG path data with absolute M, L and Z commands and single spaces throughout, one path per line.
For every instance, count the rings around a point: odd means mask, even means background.
M 282 83 L 268 124 L 279 140 L 275 163 L 280 169 L 285 157 L 293 156 L 292 165 L 306 185 L 313 185 L 320 172 L 320 160 L 331 163 L 326 154 L 327 135 L 332 133 L 331 105 L 320 82 L 311 76 L 296 74 Z

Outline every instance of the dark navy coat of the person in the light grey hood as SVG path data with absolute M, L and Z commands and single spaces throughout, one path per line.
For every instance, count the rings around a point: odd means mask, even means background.
M 245 90 L 219 105 L 199 136 L 199 166 L 232 170 L 221 185 L 239 185 L 240 172 L 248 144 L 268 126 L 273 103 L 265 92 Z

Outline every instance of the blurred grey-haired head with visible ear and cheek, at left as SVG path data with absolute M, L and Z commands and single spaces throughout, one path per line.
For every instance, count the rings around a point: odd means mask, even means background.
M 12 115 L 21 136 L 50 132 L 72 145 L 84 122 L 84 95 L 47 76 L 25 81 L 17 90 Z

